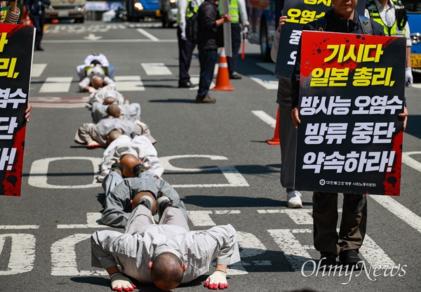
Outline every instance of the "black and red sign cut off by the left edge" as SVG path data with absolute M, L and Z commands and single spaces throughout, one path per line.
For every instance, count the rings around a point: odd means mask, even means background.
M 34 27 L 0 25 L 0 195 L 20 196 Z

